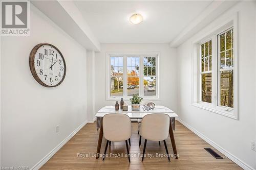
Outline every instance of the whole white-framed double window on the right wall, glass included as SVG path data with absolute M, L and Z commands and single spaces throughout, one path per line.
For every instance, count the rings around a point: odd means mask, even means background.
M 238 119 L 237 16 L 193 42 L 192 105 Z

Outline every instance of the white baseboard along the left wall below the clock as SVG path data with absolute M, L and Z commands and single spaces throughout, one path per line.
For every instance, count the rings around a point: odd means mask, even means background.
M 66 144 L 84 125 L 88 123 L 88 120 L 84 123 L 82 123 L 78 128 L 76 128 L 66 139 L 64 139 L 62 142 L 60 142 L 57 147 L 55 147 L 49 154 L 47 154 L 44 158 L 42 158 L 39 162 L 37 162 L 31 170 L 37 170 L 42 165 L 44 165 L 58 150 L 63 147 L 64 144 Z

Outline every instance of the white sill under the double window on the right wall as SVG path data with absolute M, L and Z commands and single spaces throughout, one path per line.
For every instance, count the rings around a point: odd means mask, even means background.
M 214 112 L 214 113 L 221 114 L 221 115 L 224 115 L 224 116 L 227 116 L 227 117 L 238 120 L 238 116 L 237 116 L 238 114 L 236 114 L 236 112 L 234 112 L 234 110 L 226 111 L 226 110 L 224 110 L 224 108 L 223 109 L 212 108 L 212 107 L 200 104 L 200 103 L 192 103 L 192 106 L 195 106 L 195 107 L 198 107 L 198 108 L 210 111 L 210 112 Z

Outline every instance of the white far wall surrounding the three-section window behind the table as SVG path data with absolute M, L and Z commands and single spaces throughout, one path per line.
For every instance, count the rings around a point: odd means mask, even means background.
M 177 111 L 177 55 L 176 49 L 161 43 L 106 43 L 101 44 L 101 52 L 95 57 L 95 111 L 105 105 L 114 105 L 115 101 L 106 101 L 106 53 L 108 52 L 160 52 L 159 57 L 159 101 L 170 109 Z M 119 101 L 119 99 L 118 99 Z

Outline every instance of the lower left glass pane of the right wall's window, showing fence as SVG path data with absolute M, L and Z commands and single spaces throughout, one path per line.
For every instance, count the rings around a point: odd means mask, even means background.
M 202 74 L 202 101 L 211 103 L 211 73 Z

